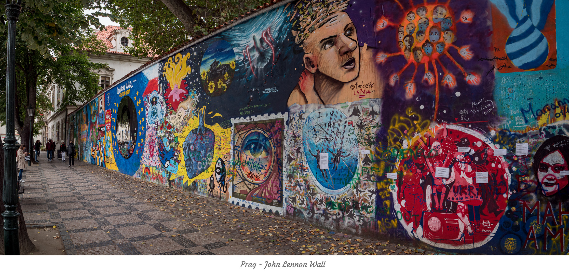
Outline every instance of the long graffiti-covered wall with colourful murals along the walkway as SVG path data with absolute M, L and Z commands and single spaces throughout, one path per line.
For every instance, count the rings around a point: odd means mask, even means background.
M 331 229 L 564 255 L 568 11 L 277 2 L 93 98 L 68 139 L 85 162 Z

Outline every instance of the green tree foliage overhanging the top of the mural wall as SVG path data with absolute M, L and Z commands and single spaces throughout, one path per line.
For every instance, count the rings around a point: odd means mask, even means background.
M 219 24 L 240 17 L 265 2 L 269 1 L 109 0 L 105 9 L 120 18 L 128 18 L 121 22 L 122 27 L 131 27 L 133 31 L 133 42 L 127 51 L 145 57 L 161 55 L 192 37 L 206 35 Z

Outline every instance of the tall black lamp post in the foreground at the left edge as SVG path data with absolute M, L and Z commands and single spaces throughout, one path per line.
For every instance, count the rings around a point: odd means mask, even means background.
M 15 96 L 15 39 L 16 22 L 20 17 L 22 0 L 6 0 L 6 18 L 8 19 L 8 40 L 6 60 L 6 138 L 4 141 L 4 186 L 2 200 L 6 211 L 4 217 L 4 254 L 20 255 L 18 241 L 18 183 L 16 178 L 16 137 L 14 135 L 14 96 Z

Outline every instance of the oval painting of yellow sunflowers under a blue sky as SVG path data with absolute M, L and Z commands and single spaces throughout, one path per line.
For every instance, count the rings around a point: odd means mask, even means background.
M 223 95 L 235 75 L 235 53 L 225 40 L 209 45 L 201 59 L 200 78 L 204 91 L 211 97 Z

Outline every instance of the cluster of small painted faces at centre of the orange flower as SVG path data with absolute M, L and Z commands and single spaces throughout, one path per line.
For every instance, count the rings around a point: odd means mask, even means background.
M 443 54 L 446 44 L 451 44 L 456 41 L 456 36 L 453 31 L 450 30 L 452 27 L 452 17 L 446 17 L 447 9 L 446 7 L 439 5 L 433 10 L 432 19 L 427 18 L 427 8 L 424 6 L 418 7 L 416 15 L 413 11 L 409 11 L 406 15 L 406 19 L 409 23 L 404 26 L 399 26 L 397 29 L 397 39 L 398 46 L 403 50 L 403 54 L 406 59 L 411 58 L 413 54 L 413 59 L 415 62 L 420 63 L 423 56 L 431 56 L 433 50 L 438 52 L 438 54 Z M 416 17 L 419 17 L 417 26 L 413 22 Z M 431 23 L 439 23 L 439 26 L 432 26 L 428 28 Z M 415 33 L 417 30 L 417 33 Z M 407 33 L 407 34 L 406 34 Z M 442 36 L 442 41 L 441 40 Z M 425 39 L 427 38 L 427 39 Z M 423 42 L 424 41 L 424 42 Z M 420 47 L 414 47 L 415 43 L 422 43 Z

